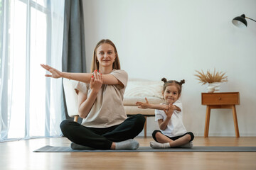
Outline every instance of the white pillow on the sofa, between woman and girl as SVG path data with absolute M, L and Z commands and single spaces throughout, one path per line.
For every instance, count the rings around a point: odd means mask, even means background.
M 138 97 L 158 97 L 163 98 L 164 82 L 163 81 L 151 81 L 144 79 L 129 79 L 127 88 L 124 92 L 126 96 L 138 96 Z

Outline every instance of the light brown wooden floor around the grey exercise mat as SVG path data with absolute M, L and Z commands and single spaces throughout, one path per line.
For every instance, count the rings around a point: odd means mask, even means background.
M 149 146 L 151 137 L 136 137 Z M 256 152 L 36 153 L 45 145 L 69 146 L 65 137 L 0 142 L 0 169 L 256 169 Z M 254 146 L 256 137 L 196 137 L 194 146 Z

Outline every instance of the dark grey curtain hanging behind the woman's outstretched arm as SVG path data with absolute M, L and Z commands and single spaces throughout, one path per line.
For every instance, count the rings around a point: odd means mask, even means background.
M 86 72 L 85 32 L 82 0 L 65 0 L 63 35 L 63 72 Z M 67 119 L 65 94 L 63 91 L 63 111 Z

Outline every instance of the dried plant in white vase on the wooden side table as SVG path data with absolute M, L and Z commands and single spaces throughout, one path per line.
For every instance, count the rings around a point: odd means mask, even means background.
M 228 81 L 228 76 L 225 76 L 224 72 L 216 72 L 214 69 L 214 72 L 210 72 L 207 70 L 206 74 L 203 72 L 199 72 L 196 70 L 198 74 L 194 74 L 197 79 L 200 81 L 200 83 L 208 84 L 207 90 L 208 93 L 212 93 L 214 91 L 218 91 L 220 89 L 220 83 Z

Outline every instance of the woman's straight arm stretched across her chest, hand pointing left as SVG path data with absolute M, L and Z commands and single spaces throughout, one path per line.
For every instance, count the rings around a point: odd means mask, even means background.
M 90 79 L 92 77 L 91 73 L 70 73 L 70 72 L 60 72 L 58 69 L 55 69 L 53 67 L 50 67 L 47 64 L 41 64 L 41 67 L 46 69 L 51 74 L 46 74 L 46 77 L 52 77 L 55 79 L 58 79 L 60 77 L 66 78 L 66 79 L 73 79 L 76 81 L 81 81 L 85 83 L 90 83 Z M 124 86 L 121 81 L 119 81 L 117 78 L 115 78 L 112 74 L 102 74 L 102 84 L 110 84 L 115 85 L 118 84 L 120 86 Z

